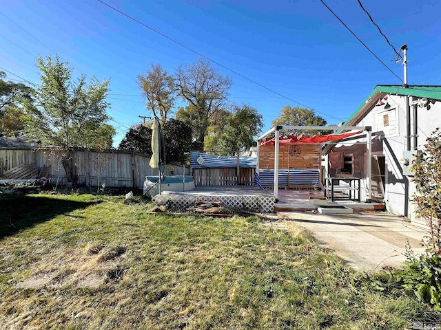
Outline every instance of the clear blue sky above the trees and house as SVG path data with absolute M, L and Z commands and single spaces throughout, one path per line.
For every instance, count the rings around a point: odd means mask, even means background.
M 105 2 L 315 109 L 330 124 L 349 118 L 376 85 L 402 84 L 319 0 Z M 325 2 L 402 78 L 402 65 L 391 61 L 393 50 L 356 0 Z M 409 85 L 441 85 L 441 1 L 420 2 L 362 1 L 397 49 L 409 46 Z M 75 76 L 111 79 L 108 113 L 116 121 L 111 122 L 118 131 L 115 145 L 140 121 L 139 115 L 151 115 L 136 76 L 151 63 L 173 73 L 178 65 L 198 58 L 98 1 L 0 0 L 0 67 L 38 83 L 36 56 L 53 52 L 74 67 Z M 232 100 L 248 103 L 263 115 L 264 131 L 283 106 L 298 105 L 222 67 L 218 71 L 233 80 Z

